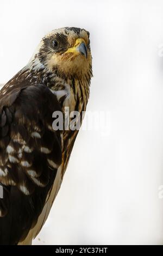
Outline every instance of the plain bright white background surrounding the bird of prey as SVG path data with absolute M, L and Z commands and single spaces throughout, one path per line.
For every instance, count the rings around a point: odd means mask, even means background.
M 0 83 L 54 28 L 90 31 L 89 111 L 108 132 L 80 131 L 61 190 L 34 244 L 163 243 L 162 1 L 0 2 Z

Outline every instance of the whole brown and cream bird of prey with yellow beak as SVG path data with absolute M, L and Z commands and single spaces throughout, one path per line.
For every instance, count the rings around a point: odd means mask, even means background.
M 0 91 L 0 244 L 30 245 L 59 191 L 78 129 L 53 129 L 55 111 L 81 115 L 89 99 L 89 32 L 65 27 L 42 38 Z

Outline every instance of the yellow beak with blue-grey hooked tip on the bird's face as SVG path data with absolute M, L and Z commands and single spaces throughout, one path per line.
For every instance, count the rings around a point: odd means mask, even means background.
M 68 48 L 66 53 L 73 52 L 75 55 L 81 53 L 87 58 L 87 47 L 83 38 L 78 38 L 72 48 Z

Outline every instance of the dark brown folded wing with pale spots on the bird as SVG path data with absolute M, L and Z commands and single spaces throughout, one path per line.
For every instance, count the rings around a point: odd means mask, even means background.
M 61 164 L 61 131 L 52 129 L 61 108 L 46 86 L 8 85 L 0 111 L 0 244 L 17 244 L 35 225 Z

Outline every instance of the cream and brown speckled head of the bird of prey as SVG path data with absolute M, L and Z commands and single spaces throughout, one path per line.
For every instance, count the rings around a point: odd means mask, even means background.
M 91 77 L 89 32 L 74 27 L 53 30 L 42 38 L 30 64 L 67 78 Z

